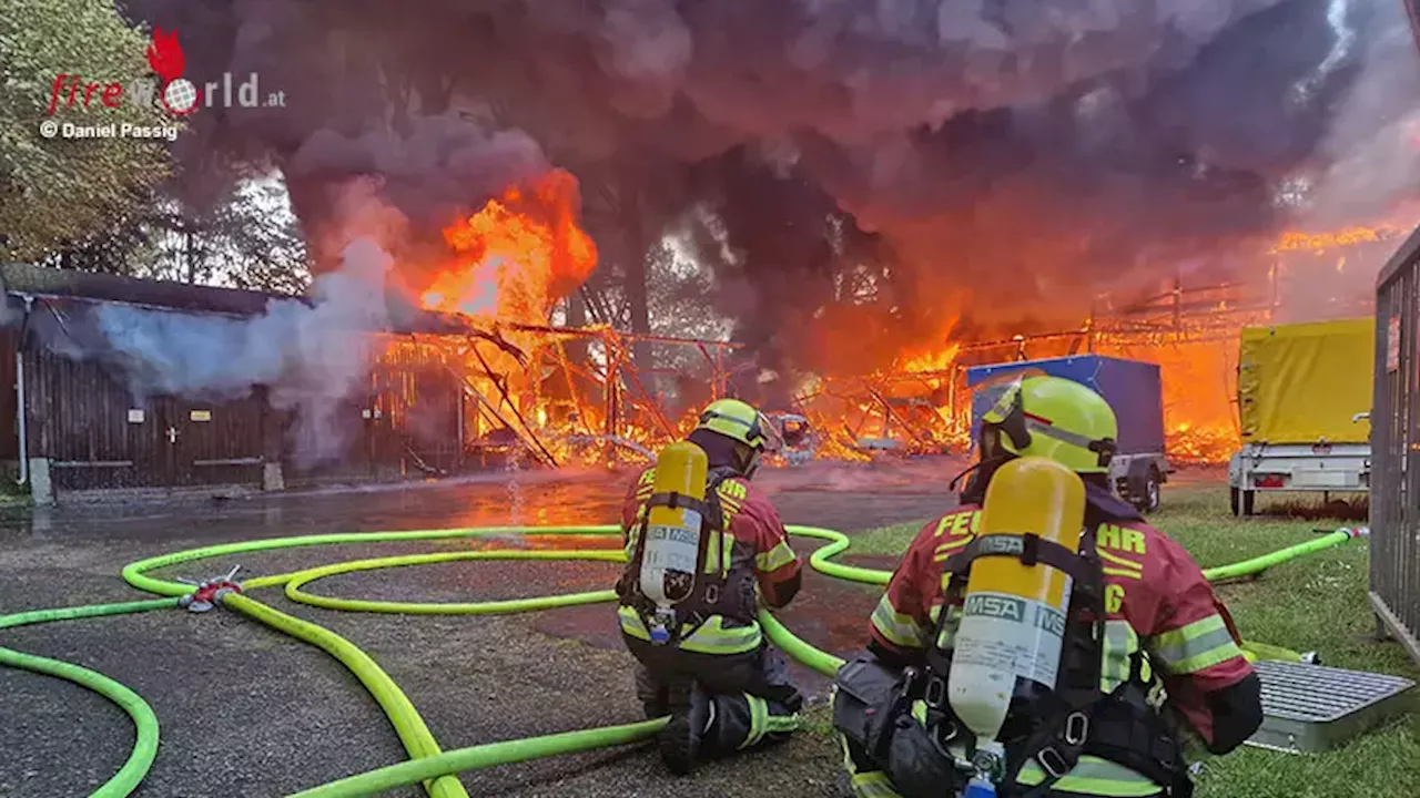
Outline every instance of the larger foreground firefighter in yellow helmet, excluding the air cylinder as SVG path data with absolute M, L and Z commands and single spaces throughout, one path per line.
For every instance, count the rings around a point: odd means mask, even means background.
M 1058 689 L 1017 683 L 1000 794 L 1187 797 L 1184 737 L 1225 754 L 1258 728 L 1261 684 L 1227 609 L 1189 552 L 1109 490 L 1116 436 L 1098 393 L 1051 376 L 1014 382 L 984 416 L 961 505 L 917 532 L 873 611 L 869 656 L 839 672 L 835 726 L 855 795 L 966 788 L 970 734 L 944 700 L 961 584 L 985 548 L 973 545 L 985 487 L 1024 456 L 1083 480 L 1079 572 L 1095 576 L 1075 581 Z

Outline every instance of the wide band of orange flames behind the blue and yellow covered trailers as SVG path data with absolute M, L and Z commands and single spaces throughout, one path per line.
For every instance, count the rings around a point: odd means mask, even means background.
M 1359 244 L 1384 244 L 1402 231 L 1396 224 L 1350 227 L 1335 231 L 1287 231 L 1268 247 L 1274 256 L 1260 263 L 1252 274 L 1238 281 L 1252 304 L 1234 307 L 1227 290 L 1196 291 L 1196 297 L 1170 304 L 1164 297 L 1154 304 L 1153 315 L 1133 325 L 1112 329 L 1062 331 L 1059 335 L 997 338 L 1004 341 L 985 351 L 974 341 L 953 337 L 956 318 L 932 337 L 899 344 L 888 373 L 859 376 L 835 375 L 834 390 L 799 390 L 804 410 L 832 439 L 822 452 L 842 456 L 845 449 L 866 439 L 893 437 L 907 450 L 933 450 L 943 443 L 961 447 L 967 443 L 971 417 L 971 392 L 964 385 L 967 365 L 1014 359 L 1055 358 L 1096 352 L 1156 364 L 1160 368 L 1164 416 L 1164 446 L 1176 463 L 1225 461 L 1241 446 L 1237 422 L 1238 337 L 1244 325 L 1302 321 L 1274 315 L 1278 302 L 1288 301 L 1279 288 L 1277 257 L 1311 253 L 1314 261 L 1298 264 L 1312 271 L 1292 275 L 1301 281 L 1292 294 L 1305 295 L 1311 307 L 1295 312 L 1353 312 L 1345 298 L 1333 295 L 1332 284 L 1319 284 L 1315 267 L 1332 273 L 1348 271 Z M 1373 260 L 1366 253 L 1362 258 Z M 1237 287 L 1234 287 L 1237 288 Z M 1281 293 L 1279 293 L 1281 291 Z M 1298 297 L 1291 297 L 1296 300 Z M 1318 300 L 1325 302 L 1318 302 Z M 1201 301 L 1200 301 L 1201 300 Z M 1332 307 L 1335 305 L 1335 307 Z M 930 408 L 934 416 L 924 413 Z

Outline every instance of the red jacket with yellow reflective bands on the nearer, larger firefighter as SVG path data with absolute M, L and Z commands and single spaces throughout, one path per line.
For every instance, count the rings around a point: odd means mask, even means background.
M 980 511 L 980 505 L 961 505 L 917 532 L 873 611 L 870 633 L 878 647 L 905 662 L 922 662 L 941 612 L 943 562 L 976 537 Z M 1143 677 L 1154 684 L 1152 696 L 1167 696 L 1167 704 L 1211 743 L 1207 694 L 1252 673 L 1227 609 L 1189 552 L 1145 521 L 1102 523 L 1093 532 L 1103 565 L 1106 612 L 1100 692 L 1110 693 L 1129 679 L 1137 652 Z M 944 635 L 954 633 L 961 608 L 949 612 Z M 1021 784 L 1044 778 L 1034 763 L 1020 775 Z M 1051 789 L 1153 795 L 1159 787 L 1122 765 L 1085 755 Z

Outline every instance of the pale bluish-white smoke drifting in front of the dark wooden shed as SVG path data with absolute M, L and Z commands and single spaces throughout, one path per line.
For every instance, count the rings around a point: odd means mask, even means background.
M 388 329 L 385 277 L 390 256 L 372 239 L 348 244 L 339 270 L 318 275 L 311 300 L 273 300 L 263 315 L 227 318 L 104 304 L 95 321 L 105 359 L 115 359 L 135 395 L 229 402 L 268 389 L 274 408 L 294 410 L 298 466 L 339 457 L 358 427 L 351 396 L 368 379 L 371 332 Z

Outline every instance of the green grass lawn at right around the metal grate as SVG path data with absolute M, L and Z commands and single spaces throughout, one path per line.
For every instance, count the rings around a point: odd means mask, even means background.
M 1269 507 L 1258 507 L 1268 513 Z M 1227 486 L 1166 486 L 1150 521 L 1180 541 L 1204 568 L 1247 559 L 1315 538 L 1316 528 L 1365 524 L 1289 514 L 1238 520 Z M 899 554 L 920 528 L 902 524 L 853 537 L 852 554 Z M 1218 594 L 1248 640 L 1316 650 L 1323 665 L 1396 673 L 1420 682 L 1399 645 L 1375 642 L 1366 602 L 1366 541 L 1306 555 L 1260 579 Z M 1420 716 L 1372 731 L 1325 754 L 1279 754 L 1242 747 L 1206 763 L 1200 798 L 1416 798 L 1420 795 Z

